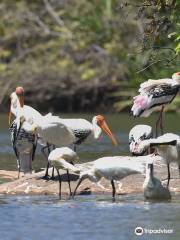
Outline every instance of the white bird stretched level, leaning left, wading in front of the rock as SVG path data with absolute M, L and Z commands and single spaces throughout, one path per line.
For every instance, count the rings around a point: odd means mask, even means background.
M 81 182 L 88 178 L 92 182 L 98 182 L 102 177 L 111 181 L 112 197 L 115 198 L 114 180 L 121 180 L 132 174 L 144 174 L 147 163 L 152 163 L 157 156 L 114 156 L 103 157 L 93 162 L 76 164 L 75 167 L 80 170 L 80 179 L 74 190 L 73 196 L 76 194 L 77 188 Z

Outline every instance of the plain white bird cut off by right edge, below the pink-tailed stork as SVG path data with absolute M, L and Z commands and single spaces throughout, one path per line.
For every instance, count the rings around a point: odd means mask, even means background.
M 157 153 L 167 164 L 168 186 L 170 181 L 170 163 L 176 162 L 180 172 L 180 137 L 177 134 L 166 133 L 157 138 L 141 141 L 136 151 L 142 152 L 151 147 L 157 149 Z

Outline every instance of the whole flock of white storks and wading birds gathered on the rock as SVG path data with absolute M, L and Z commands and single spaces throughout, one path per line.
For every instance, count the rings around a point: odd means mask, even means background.
M 170 199 L 168 186 L 170 182 L 170 163 L 176 162 L 180 172 L 180 136 L 163 133 L 162 114 L 166 104 L 173 101 L 180 88 L 180 72 L 174 73 L 172 79 L 148 80 L 140 85 L 139 95 L 134 97 L 132 113 L 136 117 L 148 117 L 160 107 L 156 122 L 156 135 L 152 127 L 136 125 L 129 132 L 129 149 L 131 156 L 102 157 L 92 162 L 79 164 L 76 148 L 85 141 L 97 140 L 102 132 L 106 133 L 114 145 L 118 142 L 112 134 L 102 115 L 94 116 L 92 122 L 85 119 L 64 119 L 51 113 L 42 115 L 34 108 L 24 104 L 24 89 L 17 87 L 11 94 L 9 124 L 11 142 L 17 158 L 19 173 L 31 172 L 37 144 L 47 158 L 44 178 L 48 179 L 49 166 L 56 169 L 59 179 L 59 196 L 61 197 L 60 169 L 67 171 L 70 196 L 75 196 L 82 181 L 88 178 L 98 183 L 104 177 L 112 185 L 112 197 L 115 199 L 115 181 L 129 175 L 143 174 L 144 196 L 146 198 Z M 12 115 L 15 117 L 11 123 Z M 159 136 L 159 129 L 161 135 Z M 73 146 L 73 150 L 70 148 Z M 161 159 L 167 165 L 167 186 L 154 177 L 156 160 Z M 72 193 L 69 172 L 79 175 L 78 184 Z

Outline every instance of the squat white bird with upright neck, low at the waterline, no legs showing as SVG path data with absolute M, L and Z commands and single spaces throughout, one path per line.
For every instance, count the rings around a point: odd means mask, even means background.
M 144 197 L 147 199 L 171 199 L 171 194 L 161 181 L 154 177 L 153 164 L 147 164 L 146 178 L 143 183 Z

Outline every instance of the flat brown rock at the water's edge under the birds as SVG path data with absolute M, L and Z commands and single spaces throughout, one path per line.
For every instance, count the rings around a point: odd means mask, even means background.
M 58 194 L 59 182 L 58 177 L 55 175 L 54 180 L 44 180 L 44 171 L 33 173 L 31 175 L 20 176 L 17 179 L 18 173 L 16 171 L 0 170 L 0 179 L 6 181 L 0 184 L 0 194 Z M 51 172 L 50 172 L 51 174 Z M 65 171 L 60 172 L 62 177 L 62 194 L 69 194 L 67 175 Z M 165 179 L 167 170 L 165 166 L 156 167 L 155 176 L 159 179 Z M 170 190 L 172 192 L 180 192 L 180 179 L 176 165 L 171 166 L 171 176 L 174 179 L 170 181 Z M 71 188 L 75 189 L 78 176 L 71 174 Z M 8 181 L 8 182 L 7 182 Z M 144 176 L 131 175 L 124 178 L 121 182 L 116 182 L 117 194 L 141 193 Z M 164 182 L 166 183 L 166 182 Z M 88 179 L 84 180 L 79 187 L 77 194 L 90 194 L 90 193 L 109 193 L 111 194 L 110 182 L 102 178 L 99 184 L 92 183 Z

